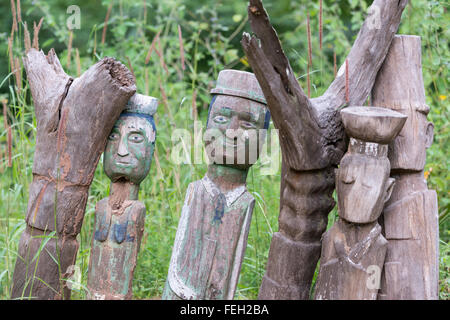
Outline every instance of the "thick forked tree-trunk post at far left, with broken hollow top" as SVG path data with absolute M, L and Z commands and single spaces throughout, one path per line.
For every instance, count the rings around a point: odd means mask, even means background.
M 108 134 L 136 91 L 131 72 L 104 58 L 73 79 L 50 50 L 24 58 L 36 119 L 33 182 L 12 298 L 68 299 L 89 186 Z

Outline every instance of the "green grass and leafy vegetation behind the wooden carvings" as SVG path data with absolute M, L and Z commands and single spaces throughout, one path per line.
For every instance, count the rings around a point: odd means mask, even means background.
M 12 1 L 16 9 L 20 1 Z M 311 16 L 313 35 L 312 96 L 318 96 L 332 81 L 333 53 L 338 67 L 365 18 L 370 0 L 324 1 L 324 46 L 319 48 L 319 1 L 265 0 L 271 21 L 289 56 L 299 82 L 306 88 L 307 37 L 306 15 Z M 0 100 L 12 134 L 12 167 L 8 167 L 7 126 L 0 129 L 0 298 L 8 299 L 20 234 L 25 228 L 24 215 L 28 188 L 32 180 L 36 119 L 21 61 L 14 73 L 8 38 L 13 23 L 11 3 L 0 0 Z M 81 9 L 81 28 L 70 32 L 66 27 L 68 6 Z M 218 72 L 224 68 L 251 71 L 240 39 L 250 32 L 242 0 L 22 0 L 18 30 L 13 34 L 12 55 L 23 56 L 24 24 L 32 33 L 33 21 L 44 17 L 39 33 L 40 47 L 55 48 L 66 72 L 77 76 L 104 56 L 112 56 L 133 70 L 138 92 L 161 101 L 156 116 L 158 137 L 155 159 L 149 177 L 141 186 L 140 199 L 147 206 L 145 236 L 133 284 L 136 299 L 160 297 L 167 275 L 184 192 L 187 185 L 200 179 L 206 165 L 175 165 L 171 141 L 175 128 L 193 131 L 195 119 L 206 121 L 209 90 Z M 108 8 L 110 14 L 105 23 Z M 440 297 L 449 298 L 449 21 L 447 1 L 415 0 L 403 15 L 400 33 L 422 37 L 423 75 L 429 119 L 435 124 L 435 139 L 428 151 L 425 176 L 430 189 L 438 192 L 441 236 Z M 106 25 L 106 26 L 105 26 Z M 178 26 L 182 31 L 185 69 L 180 54 Z M 107 27 L 104 41 L 102 34 Z M 155 35 L 156 50 L 148 63 L 147 53 Z M 22 89 L 19 89 L 19 88 Z M 2 113 L 5 114 L 5 113 Z M 0 115 L 3 122 L 4 116 Z M 1 124 L 0 124 L 1 125 Z M 273 127 L 273 125 L 271 126 Z M 261 162 L 253 167 L 248 187 L 256 198 L 248 247 L 237 290 L 238 299 L 257 298 L 265 271 L 270 239 L 278 229 L 280 175 L 261 175 Z M 90 189 L 86 216 L 79 235 L 73 298 L 83 299 L 90 254 L 94 207 L 108 195 L 109 180 L 100 163 Z M 336 212 L 330 214 L 330 225 Z

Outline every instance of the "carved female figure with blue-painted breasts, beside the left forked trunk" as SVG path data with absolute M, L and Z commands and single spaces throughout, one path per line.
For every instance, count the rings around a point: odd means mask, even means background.
M 131 299 L 133 272 L 144 232 L 145 205 L 139 184 L 152 161 L 158 100 L 135 94 L 108 137 L 104 171 L 109 197 L 97 203 L 89 261 L 89 298 Z

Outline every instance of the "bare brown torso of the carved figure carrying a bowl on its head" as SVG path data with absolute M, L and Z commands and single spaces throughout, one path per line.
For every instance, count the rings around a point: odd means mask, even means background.
M 375 300 L 378 287 L 371 286 L 371 272 L 378 272 L 373 276 L 379 279 L 386 246 L 377 222 L 358 225 L 339 219 L 323 236 L 316 299 Z

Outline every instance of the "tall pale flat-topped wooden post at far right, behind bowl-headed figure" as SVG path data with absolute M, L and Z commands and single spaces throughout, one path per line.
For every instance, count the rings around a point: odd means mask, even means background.
M 408 116 L 389 145 L 396 183 L 381 223 L 389 242 L 379 299 L 438 299 L 437 195 L 424 178 L 434 127 L 427 121 L 421 60 L 420 37 L 396 36 L 372 91 L 374 105 Z

